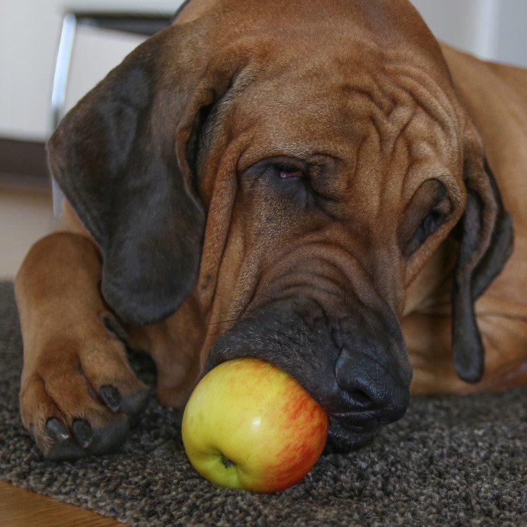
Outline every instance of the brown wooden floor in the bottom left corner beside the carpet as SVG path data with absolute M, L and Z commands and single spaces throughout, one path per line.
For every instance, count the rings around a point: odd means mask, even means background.
M 115 519 L 0 481 L 2 527 L 119 527 Z

